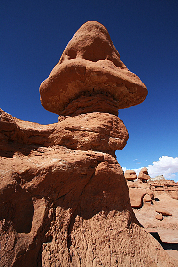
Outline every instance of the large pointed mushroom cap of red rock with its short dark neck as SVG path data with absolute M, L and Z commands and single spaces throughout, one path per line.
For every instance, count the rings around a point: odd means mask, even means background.
M 147 89 L 120 60 L 106 28 L 88 21 L 42 82 L 40 95 L 43 107 L 60 115 L 95 111 L 118 115 L 118 108 L 145 100 Z

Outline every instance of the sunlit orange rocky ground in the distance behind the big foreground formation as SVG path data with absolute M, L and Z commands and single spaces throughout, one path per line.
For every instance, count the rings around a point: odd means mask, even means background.
M 160 176 L 160 179 L 149 179 L 146 183 L 140 180 L 127 183 L 138 221 L 159 240 L 166 252 L 178 259 L 178 182 Z M 151 202 L 144 202 L 146 194 L 151 195 Z M 158 215 L 156 210 L 162 209 L 172 215 L 158 220 L 155 218 Z

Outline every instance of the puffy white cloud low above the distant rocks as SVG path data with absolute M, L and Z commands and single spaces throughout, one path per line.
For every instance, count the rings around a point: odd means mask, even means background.
M 143 167 L 148 169 L 148 173 L 151 177 L 163 174 L 165 178 L 174 179 L 175 176 L 177 176 L 175 173 L 178 172 L 178 157 L 172 158 L 168 156 L 162 156 L 158 161 L 153 161 L 153 165 Z M 137 175 L 143 167 L 134 169 Z

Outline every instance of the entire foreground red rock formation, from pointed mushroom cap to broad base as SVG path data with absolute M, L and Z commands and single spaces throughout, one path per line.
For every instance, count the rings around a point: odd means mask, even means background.
M 176 266 L 136 219 L 114 154 L 128 139 L 114 110 L 143 101 L 146 87 L 104 26 L 87 22 L 73 38 L 40 88 L 59 122 L 0 111 L 0 265 Z

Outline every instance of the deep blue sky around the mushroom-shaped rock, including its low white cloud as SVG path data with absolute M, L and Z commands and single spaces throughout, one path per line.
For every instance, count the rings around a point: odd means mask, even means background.
M 89 20 L 107 28 L 121 60 L 149 92 L 142 104 L 119 111 L 129 131 L 127 146 L 116 153 L 119 163 L 128 169 L 158 161 L 157 172 L 177 180 L 177 0 L 2 1 L 1 108 L 22 120 L 57 122 L 58 116 L 41 106 L 38 89 Z

